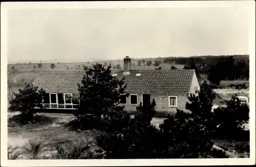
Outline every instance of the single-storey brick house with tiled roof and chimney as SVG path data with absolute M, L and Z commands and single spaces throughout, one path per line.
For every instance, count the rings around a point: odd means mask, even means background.
M 121 98 L 124 110 L 134 112 L 136 106 L 155 99 L 158 112 L 173 113 L 176 109 L 185 109 L 190 93 L 200 89 L 195 70 L 132 70 L 131 58 L 124 58 L 124 70 L 113 70 L 115 77 L 125 76 L 126 92 L 129 97 Z M 71 113 L 78 103 L 77 84 L 85 74 L 84 71 L 44 71 L 33 84 L 47 93 L 44 105 L 47 112 Z

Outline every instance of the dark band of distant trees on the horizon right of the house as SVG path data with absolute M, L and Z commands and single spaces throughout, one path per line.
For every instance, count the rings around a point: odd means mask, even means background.
M 183 69 L 195 69 L 198 77 L 207 74 L 207 79 L 216 85 L 221 80 L 249 79 L 249 55 L 166 58 L 163 62 L 185 64 Z

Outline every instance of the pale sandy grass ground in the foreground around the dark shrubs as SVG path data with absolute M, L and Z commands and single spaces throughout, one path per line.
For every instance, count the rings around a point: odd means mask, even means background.
M 17 113 L 9 113 L 9 118 Z M 96 154 L 99 150 L 95 143 L 97 135 L 101 134 L 98 130 L 88 131 L 70 131 L 65 125 L 74 117 L 69 114 L 37 114 L 36 124 L 17 125 L 10 120 L 8 121 L 8 152 L 12 158 L 19 159 L 51 159 L 57 157 L 57 147 L 63 148 L 65 152 L 71 153 L 75 147 L 90 146 L 86 154 Z M 153 118 L 152 124 L 159 126 L 164 119 Z M 57 135 L 56 135 L 57 134 Z M 32 143 L 33 145 L 29 145 Z M 37 157 L 33 157 L 31 151 L 26 151 L 22 155 L 20 152 L 31 146 L 38 145 Z M 232 157 L 248 157 L 249 142 L 234 141 L 214 141 L 215 145 L 228 151 Z M 13 151 L 14 150 L 14 151 Z M 243 150 L 243 151 L 241 151 Z M 63 158 L 63 157 L 62 157 Z

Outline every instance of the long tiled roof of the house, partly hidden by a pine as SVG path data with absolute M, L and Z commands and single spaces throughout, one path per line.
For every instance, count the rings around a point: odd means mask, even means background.
M 126 92 L 136 94 L 187 94 L 195 70 L 113 70 L 116 77 L 125 77 Z M 77 84 L 84 71 L 45 71 L 33 82 L 48 93 L 78 93 Z M 139 76 L 136 74 L 140 74 Z

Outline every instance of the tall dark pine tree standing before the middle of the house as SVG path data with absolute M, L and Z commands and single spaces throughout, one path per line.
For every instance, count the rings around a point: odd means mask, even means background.
M 80 105 L 76 115 L 93 114 L 101 116 L 107 112 L 119 112 L 120 97 L 125 93 L 124 78 L 118 79 L 111 74 L 111 65 L 104 68 L 101 64 L 89 67 L 84 75 L 80 92 Z

